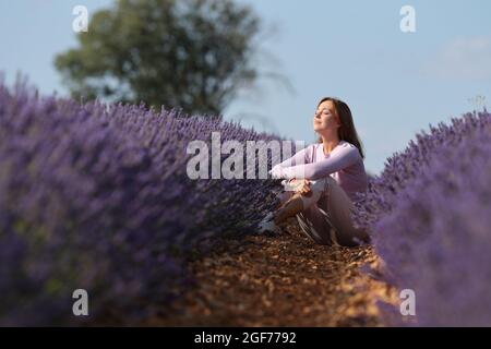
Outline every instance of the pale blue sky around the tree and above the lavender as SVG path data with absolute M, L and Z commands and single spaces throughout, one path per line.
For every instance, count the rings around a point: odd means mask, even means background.
M 489 109 L 489 0 L 236 2 L 263 20 L 254 60 L 262 77 L 224 110 L 227 120 L 310 143 L 318 101 L 338 97 L 351 109 L 367 170 L 380 173 L 385 159 L 429 124 L 483 104 Z M 85 5 L 91 16 L 112 3 L 0 0 L 0 72 L 7 82 L 22 72 L 43 94 L 68 95 L 53 58 L 76 47 L 72 10 Z M 415 11 L 416 32 L 400 29 L 404 5 Z M 479 105 L 477 96 L 487 99 Z

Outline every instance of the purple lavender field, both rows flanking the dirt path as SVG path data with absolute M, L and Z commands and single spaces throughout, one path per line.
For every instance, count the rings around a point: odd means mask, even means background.
M 187 177 L 188 143 L 214 131 L 278 139 L 1 84 L 0 325 L 79 324 L 77 288 L 92 294 L 91 318 L 139 322 L 192 282 L 185 261 L 203 241 L 253 233 L 276 181 Z M 490 155 L 486 110 L 431 127 L 387 159 L 358 207 L 385 279 L 416 292 L 416 325 L 491 325 Z

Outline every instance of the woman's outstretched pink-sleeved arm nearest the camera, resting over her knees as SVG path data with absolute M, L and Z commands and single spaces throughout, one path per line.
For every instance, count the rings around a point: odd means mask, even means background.
M 330 157 L 324 160 L 282 168 L 279 177 L 285 179 L 304 178 L 314 180 L 351 166 L 359 159 L 360 153 L 358 148 L 347 144 L 331 153 Z

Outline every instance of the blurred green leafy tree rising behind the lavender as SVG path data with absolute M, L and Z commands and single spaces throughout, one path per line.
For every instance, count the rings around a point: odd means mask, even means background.
M 258 77 L 262 24 L 231 0 L 119 0 L 55 65 L 75 98 L 217 116 Z

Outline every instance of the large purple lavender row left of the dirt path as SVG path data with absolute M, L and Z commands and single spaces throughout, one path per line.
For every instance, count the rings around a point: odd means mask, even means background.
M 0 325 L 161 311 L 203 239 L 250 231 L 273 181 L 190 180 L 191 140 L 271 140 L 220 118 L 39 97 L 0 84 Z M 225 136 L 224 136 L 225 135 Z

